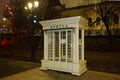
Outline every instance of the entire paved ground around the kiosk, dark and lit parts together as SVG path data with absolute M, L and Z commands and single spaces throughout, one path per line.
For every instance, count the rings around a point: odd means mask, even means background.
M 39 63 L 0 58 L 0 80 L 120 80 L 120 75 L 88 70 L 81 76 L 41 71 Z

